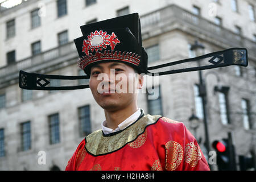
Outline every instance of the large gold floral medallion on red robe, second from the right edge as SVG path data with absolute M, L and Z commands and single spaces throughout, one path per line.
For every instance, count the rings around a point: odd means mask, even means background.
M 166 170 L 174 171 L 183 159 L 183 148 L 181 144 L 169 141 L 166 143 Z

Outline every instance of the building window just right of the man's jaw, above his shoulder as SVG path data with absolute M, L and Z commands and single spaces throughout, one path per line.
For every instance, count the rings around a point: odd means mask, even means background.
M 160 86 L 155 86 L 152 89 L 147 88 L 147 108 L 148 114 L 163 115 Z

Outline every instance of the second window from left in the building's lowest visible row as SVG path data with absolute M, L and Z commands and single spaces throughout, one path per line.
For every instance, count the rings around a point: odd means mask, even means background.
M 31 129 L 30 121 L 21 123 L 21 146 L 22 151 L 30 150 L 31 148 Z

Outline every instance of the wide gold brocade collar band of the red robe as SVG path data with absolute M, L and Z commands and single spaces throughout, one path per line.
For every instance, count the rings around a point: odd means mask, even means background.
M 102 135 L 102 130 L 94 131 L 86 137 L 85 148 L 93 155 L 116 151 L 137 138 L 138 135 L 143 133 L 147 125 L 155 123 L 160 117 L 160 115 L 144 115 L 127 129 L 108 137 Z

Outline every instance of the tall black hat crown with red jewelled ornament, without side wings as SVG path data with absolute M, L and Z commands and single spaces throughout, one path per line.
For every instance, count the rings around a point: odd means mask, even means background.
M 82 35 L 75 39 L 79 53 L 78 65 L 87 75 L 93 64 L 121 61 L 147 72 L 147 53 L 142 47 L 141 23 L 138 13 L 119 16 L 81 26 Z

